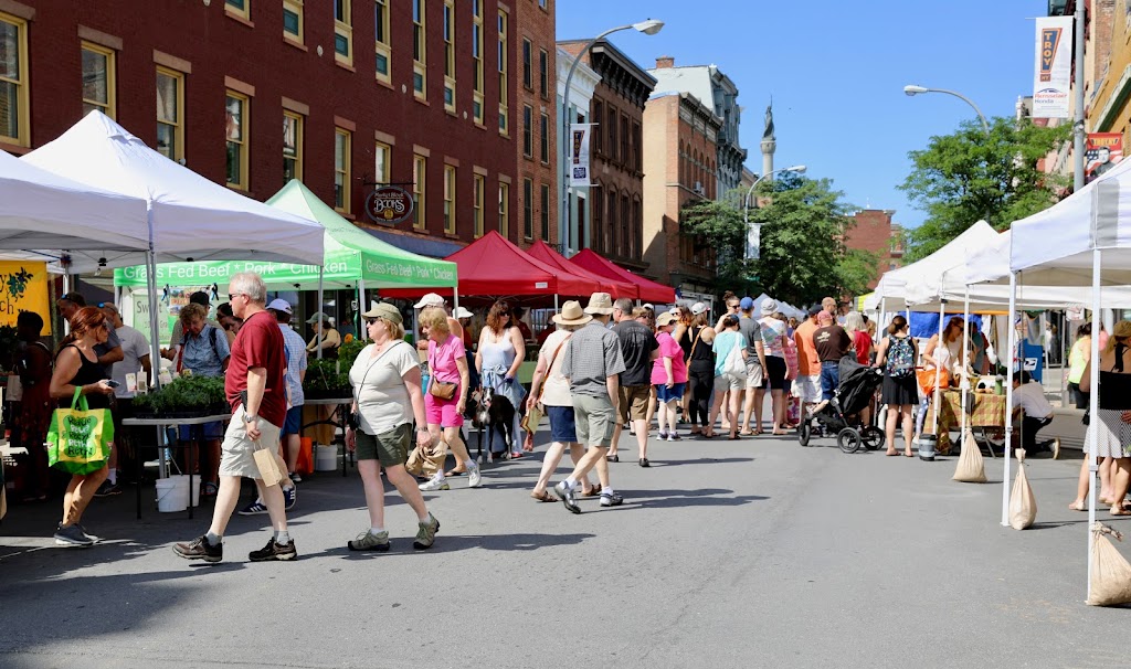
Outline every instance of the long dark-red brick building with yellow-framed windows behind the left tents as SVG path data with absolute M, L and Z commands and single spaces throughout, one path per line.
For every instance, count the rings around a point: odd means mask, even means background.
M 0 0 L 0 148 L 100 108 L 213 181 L 264 200 L 297 177 L 420 253 L 517 241 L 519 35 L 552 46 L 553 8 L 510 2 Z M 538 12 L 549 34 L 521 26 Z M 415 193 L 415 218 L 366 220 L 372 182 Z

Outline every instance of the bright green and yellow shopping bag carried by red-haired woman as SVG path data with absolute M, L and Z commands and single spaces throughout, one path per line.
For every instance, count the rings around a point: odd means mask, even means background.
M 59 408 L 51 415 L 48 463 L 68 473 L 93 473 L 106 466 L 113 442 L 110 409 L 90 409 L 83 389 L 76 388 L 71 408 Z

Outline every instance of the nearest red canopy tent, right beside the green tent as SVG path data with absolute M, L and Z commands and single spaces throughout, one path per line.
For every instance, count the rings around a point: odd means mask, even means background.
M 444 258 L 456 263 L 459 294 L 467 295 L 567 295 L 588 297 L 604 290 L 597 279 L 561 271 L 527 255 L 491 231 Z M 382 288 L 382 297 L 420 297 L 425 293 L 451 295 L 451 288 Z

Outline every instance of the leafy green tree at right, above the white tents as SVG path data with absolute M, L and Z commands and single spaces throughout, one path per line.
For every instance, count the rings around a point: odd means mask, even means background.
M 912 173 L 898 186 L 927 218 L 907 231 L 907 259 L 939 250 L 985 219 L 996 229 L 1054 205 L 1069 185 L 1037 162 L 1071 136 L 1071 127 L 1043 128 L 1031 121 L 995 118 L 990 136 L 981 123 L 965 122 L 953 134 L 932 137 L 926 149 L 910 151 Z

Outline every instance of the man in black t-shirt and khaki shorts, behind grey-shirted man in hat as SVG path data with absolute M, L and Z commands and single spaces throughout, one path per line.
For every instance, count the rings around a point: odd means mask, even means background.
M 651 365 L 659 357 L 659 342 L 647 325 L 632 318 L 632 301 L 621 297 L 613 303 L 613 332 L 621 341 L 621 357 L 624 358 L 624 371 L 621 372 L 621 415 L 613 431 L 612 448 L 608 449 L 608 460 L 620 462 L 616 446 L 625 422 L 631 420 L 636 428 L 637 446 L 640 449 L 640 462 L 647 462 L 648 454 L 648 400 L 651 397 Z M 664 435 L 661 435 L 663 438 Z

